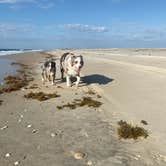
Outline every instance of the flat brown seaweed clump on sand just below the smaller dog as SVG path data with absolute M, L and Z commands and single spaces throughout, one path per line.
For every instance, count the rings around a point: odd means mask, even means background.
M 36 99 L 39 101 L 45 101 L 51 98 L 57 98 L 60 97 L 57 93 L 44 93 L 44 92 L 30 92 L 26 95 L 24 95 L 25 98 L 27 99 Z

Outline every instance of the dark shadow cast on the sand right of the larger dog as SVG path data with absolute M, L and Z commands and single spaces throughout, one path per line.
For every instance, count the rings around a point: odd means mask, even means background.
M 88 76 L 82 77 L 82 83 L 89 85 L 89 84 L 99 84 L 99 85 L 106 85 L 112 82 L 114 79 L 106 77 L 100 74 L 92 74 Z

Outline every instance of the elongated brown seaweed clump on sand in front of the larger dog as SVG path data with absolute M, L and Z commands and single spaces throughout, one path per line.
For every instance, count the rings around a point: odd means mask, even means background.
M 86 105 L 88 107 L 97 108 L 100 107 L 102 103 L 97 100 L 93 100 L 91 97 L 83 97 L 83 99 L 75 99 L 72 103 L 57 106 L 57 109 L 63 109 L 65 107 L 70 109 L 76 109 L 76 107 L 83 107 Z

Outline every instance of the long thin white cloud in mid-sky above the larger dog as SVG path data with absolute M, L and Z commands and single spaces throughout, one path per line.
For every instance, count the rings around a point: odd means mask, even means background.
M 109 29 L 105 26 L 94 26 L 94 25 L 84 25 L 84 24 L 65 24 L 61 26 L 64 27 L 65 29 L 74 30 L 78 32 L 103 33 L 109 31 Z

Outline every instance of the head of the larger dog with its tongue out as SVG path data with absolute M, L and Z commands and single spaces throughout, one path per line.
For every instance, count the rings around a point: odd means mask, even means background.
M 71 57 L 71 64 L 72 64 L 72 67 L 77 72 L 80 72 L 81 68 L 84 65 L 83 56 L 82 55 L 72 55 L 72 57 Z

